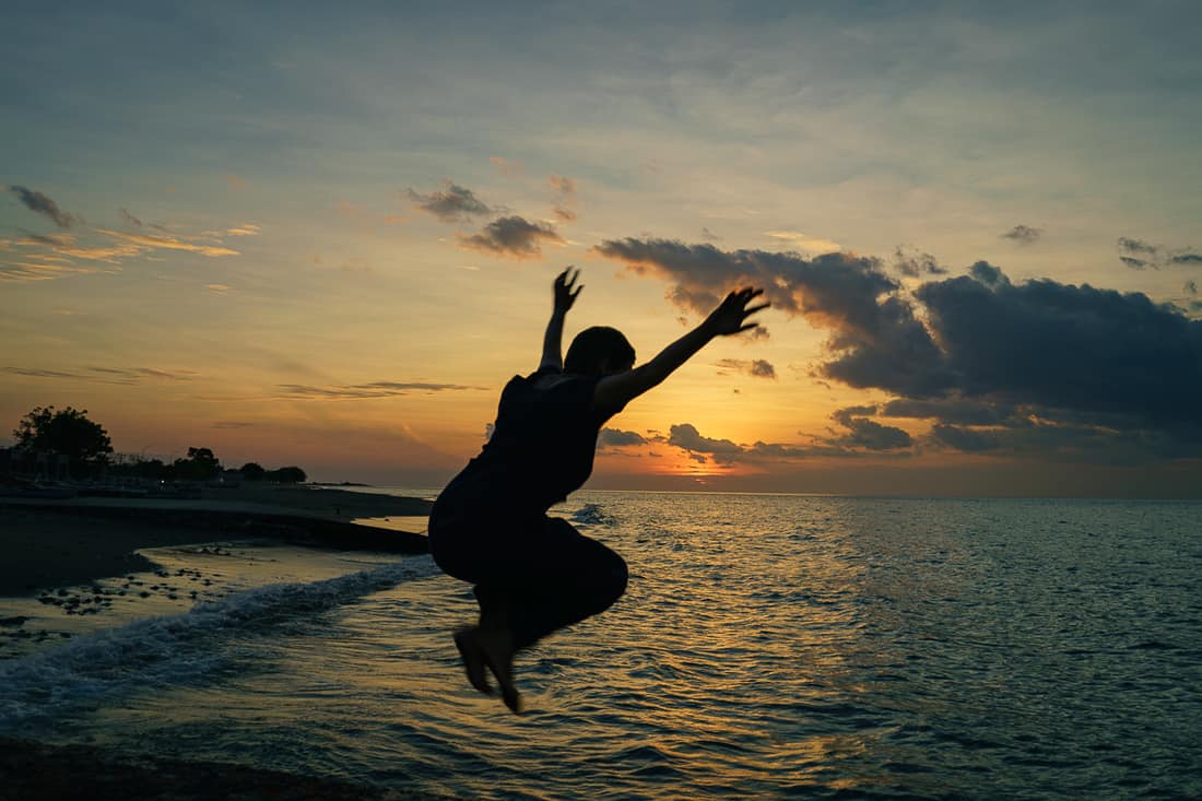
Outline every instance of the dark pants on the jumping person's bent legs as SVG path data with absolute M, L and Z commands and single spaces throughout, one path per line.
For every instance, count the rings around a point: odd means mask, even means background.
M 481 625 L 510 629 L 518 648 L 603 612 L 626 591 L 623 558 L 565 520 L 440 526 L 436 517 L 434 560 L 476 585 Z

